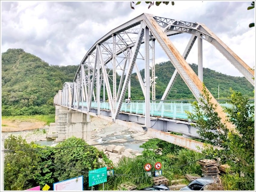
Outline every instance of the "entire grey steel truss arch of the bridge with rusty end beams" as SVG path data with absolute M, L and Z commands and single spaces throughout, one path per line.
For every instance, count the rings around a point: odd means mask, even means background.
M 181 33 L 191 34 L 183 55 L 178 52 L 168 38 L 168 36 Z M 196 39 L 198 39 L 199 51 L 198 75 L 186 62 L 186 58 Z M 127 88 L 128 95 L 130 95 L 129 86 L 130 81 L 133 80 L 131 79 L 131 74 L 135 70 L 145 97 L 145 126 L 146 128 L 151 128 L 150 85 L 152 85 L 152 98 L 154 99 L 155 43 L 158 42 L 160 44 L 176 68 L 162 96 L 162 100 L 166 99 L 176 77 L 180 74 L 197 101 L 200 102 L 203 89 L 202 40 L 211 43 L 218 49 L 254 85 L 254 71 L 204 24 L 143 13 L 111 30 L 96 41 L 80 62 L 73 82 L 64 83 L 62 90 L 55 95 L 54 102 L 73 109 L 82 107 L 82 110 L 85 102 L 86 112 L 90 112 L 92 100 L 94 100 L 97 101 L 98 112 L 100 112 L 100 92 L 103 88 L 103 98 L 105 99 L 106 90 L 111 109 L 111 118 L 116 121 L 120 114 Z M 144 60 L 145 64 L 144 80 L 142 80 L 137 65 L 137 62 L 141 60 Z M 151 77 L 149 74 L 150 68 L 152 69 Z M 118 80 L 117 72 L 121 74 Z M 211 93 L 210 97 L 212 98 L 211 102 L 217 105 L 216 112 L 221 117 L 221 121 L 232 129 L 233 125 L 226 122 L 226 114 L 223 112 L 222 107 Z M 82 106 L 80 106 L 80 102 L 82 102 Z

